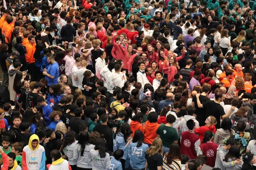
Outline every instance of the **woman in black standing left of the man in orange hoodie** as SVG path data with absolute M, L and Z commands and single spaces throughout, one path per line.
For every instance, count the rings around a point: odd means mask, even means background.
M 23 42 L 23 38 L 18 36 L 16 38 L 17 40 L 17 51 L 20 53 L 20 55 L 18 56 L 18 58 L 21 61 L 22 67 L 20 67 L 20 71 L 26 71 L 27 70 L 27 62 L 26 62 L 26 58 L 25 58 L 25 54 L 26 54 L 26 47 L 24 45 L 22 45 Z

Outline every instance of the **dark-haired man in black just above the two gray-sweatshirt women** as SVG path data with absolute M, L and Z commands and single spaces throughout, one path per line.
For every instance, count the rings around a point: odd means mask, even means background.
M 82 115 L 84 114 L 84 111 L 81 107 L 75 109 L 74 111 L 75 117 L 69 120 L 69 128 L 68 131 L 74 131 L 75 134 L 79 134 L 79 125 L 86 122 L 82 120 Z

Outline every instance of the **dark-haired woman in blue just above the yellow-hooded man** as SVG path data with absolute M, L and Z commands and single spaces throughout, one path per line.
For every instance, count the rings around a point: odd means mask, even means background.
M 41 113 L 34 114 L 33 118 L 31 119 L 30 132 L 35 134 L 38 129 L 44 129 L 45 126 L 46 123 L 43 119 L 43 115 Z

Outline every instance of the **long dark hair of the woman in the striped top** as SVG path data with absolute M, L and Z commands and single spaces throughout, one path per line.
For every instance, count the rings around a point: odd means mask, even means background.
M 181 149 L 178 144 L 172 143 L 169 153 L 165 154 L 167 164 L 170 165 L 174 159 L 181 160 Z

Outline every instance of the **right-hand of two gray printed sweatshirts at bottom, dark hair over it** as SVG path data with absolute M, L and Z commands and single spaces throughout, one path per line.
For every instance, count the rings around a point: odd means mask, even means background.
M 111 168 L 110 156 L 106 153 L 105 157 L 100 157 L 98 150 L 92 149 L 90 151 L 92 159 L 92 170 L 108 170 Z

